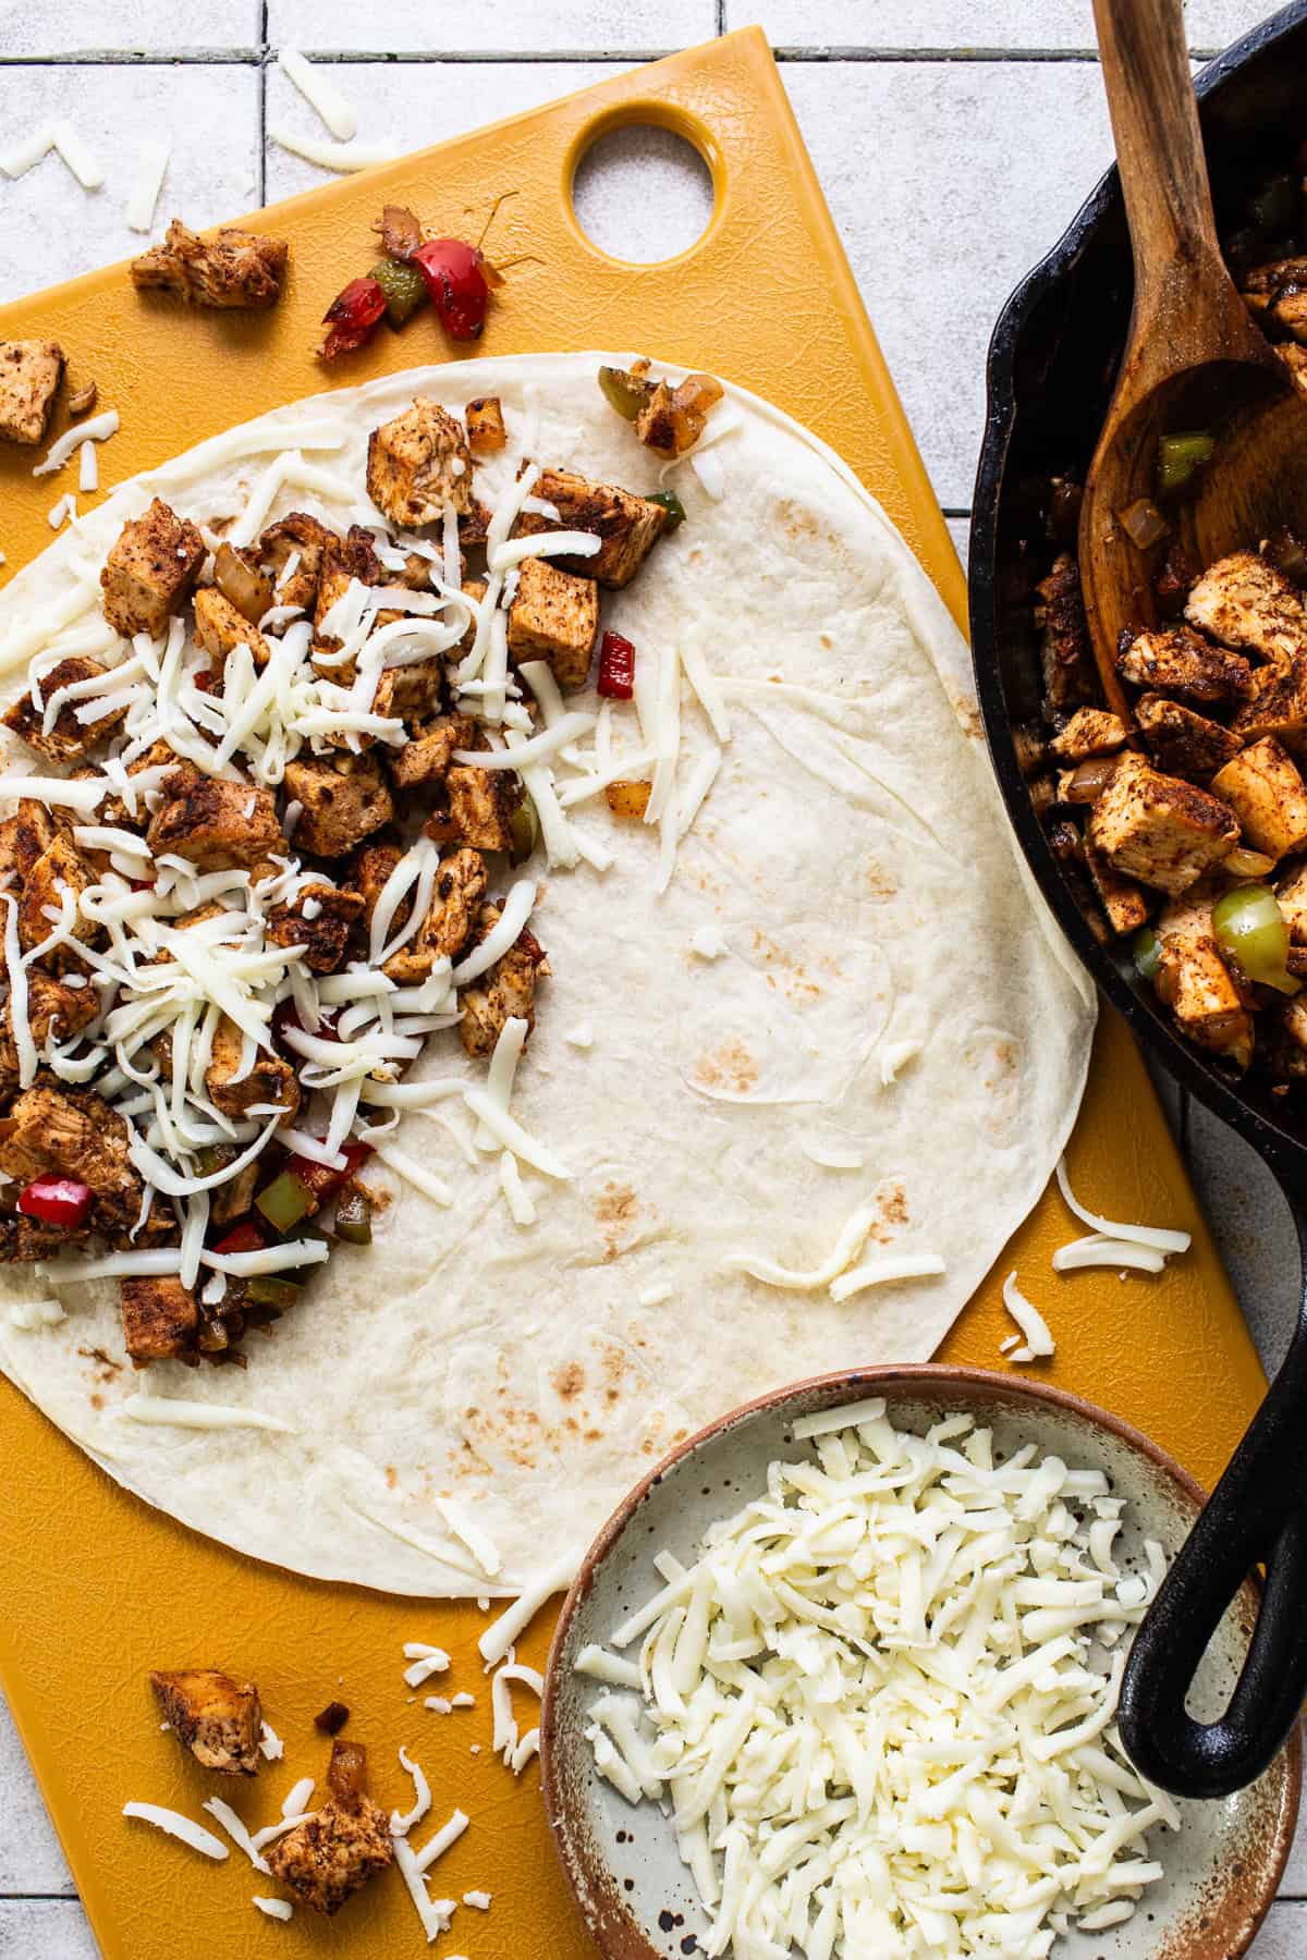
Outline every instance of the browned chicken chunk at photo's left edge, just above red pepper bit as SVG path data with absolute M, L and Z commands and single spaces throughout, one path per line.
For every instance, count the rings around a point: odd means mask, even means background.
M 96 1231 L 127 1231 L 141 1209 L 143 1184 L 127 1156 L 127 1125 L 92 1090 L 24 1090 L 0 1119 L 0 1170 L 16 1184 L 55 1172 L 94 1192 Z

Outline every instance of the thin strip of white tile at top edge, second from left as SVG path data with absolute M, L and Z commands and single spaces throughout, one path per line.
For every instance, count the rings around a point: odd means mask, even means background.
M 268 39 L 366 55 L 653 53 L 711 41 L 713 0 L 270 0 Z M 486 122 L 486 118 L 478 118 Z

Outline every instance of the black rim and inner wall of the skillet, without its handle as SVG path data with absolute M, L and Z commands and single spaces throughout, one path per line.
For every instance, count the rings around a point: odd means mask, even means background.
M 1307 0 L 1293 0 L 1227 49 L 1203 71 L 1197 92 L 1217 227 L 1227 233 L 1240 223 L 1254 184 L 1293 169 L 1307 137 Z M 1113 169 L 1011 296 L 990 343 L 970 541 L 976 686 L 1017 837 L 1080 958 L 1168 1072 L 1307 1198 L 1307 1109 L 1299 1102 L 1295 1113 L 1291 1098 L 1244 1084 L 1229 1064 L 1178 1037 L 1125 945 L 1099 945 L 1035 817 L 1013 745 L 1013 723 L 1039 715 L 1035 586 L 1056 549 L 1044 537 L 1046 484 L 1064 470 L 1084 474 L 1089 463 L 1131 294 L 1129 231 Z

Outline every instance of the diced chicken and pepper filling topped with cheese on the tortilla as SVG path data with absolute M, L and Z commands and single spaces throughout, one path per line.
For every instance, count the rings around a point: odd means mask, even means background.
M 484 451 L 504 414 L 472 408 Z M 670 517 L 525 465 L 490 512 L 425 398 L 372 431 L 366 494 L 372 525 L 288 512 L 249 545 L 155 498 L 100 574 L 116 655 L 55 641 L 4 715 L 33 794 L 0 821 L 0 1258 L 116 1272 L 137 1366 L 243 1364 L 368 1243 L 388 1092 L 433 1043 L 529 1041 L 515 664 L 582 686 L 600 590 Z M 539 555 L 506 572 L 509 537 Z

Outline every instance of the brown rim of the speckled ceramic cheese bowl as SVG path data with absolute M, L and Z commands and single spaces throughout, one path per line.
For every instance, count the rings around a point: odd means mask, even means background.
M 549 1644 L 549 1658 L 545 1662 L 545 1691 L 541 1697 L 541 1797 L 545 1801 L 545 1819 L 549 1823 L 555 1852 L 562 1866 L 564 1882 L 578 1905 L 590 1936 L 596 1940 L 605 1960 L 660 1960 L 660 1956 L 653 1946 L 649 1946 L 639 1929 L 637 1938 L 641 1944 L 631 1946 L 625 1942 L 621 1948 L 609 1944 L 609 1929 L 605 1927 L 604 1917 L 590 1903 L 584 1858 L 572 1835 L 566 1805 L 562 1801 L 558 1754 L 564 1723 L 560 1717 L 558 1680 L 572 1625 L 592 1592 L 598 1570 L 613 1552 L 649 1492 L 690 1456 L 705 1445 L 715 1443 L 717 1437 L 727 1431 L 745 1427 L 756 1417 L 772 1415 L 778 1409 L 784 1409 L 786 1403 L 801 1397 L 807 1399 L 815 1396 L 819 1403 L 833 1409 L 843 1401 L 862 1401 L 876 1394 L 901 1394 L 905 1397 L 917 1396 L 929 1399 L 933 1388 L 946 1388 L 950 1394 L 970 1390 L 990 1401 L 997 1401 L 999 1397 L 1003 1401 L 1031 1401 L 1046 1409 L 1076 1415 L 1091 1429 L 1105 1431 L 1119 1443 L 1125 1443 L 1127 1448 L 1133 1448 L 1138 1456 L 1144 1456 L 1170 1480 L 1182 1499 L 1186 1499 L 1195 1511 L 1199 1511 L 1207 1501 L 1207 1492 L 1197 1478 L 1184 1468 L 1184 1464 L 1164 1450 L 1160 1443 L 1154 1443 L 1154 1439 L 1142 1429 L 1127 1423 L 1121 1415 L 1113 1415 L 1111 1409 L 1103 1409 L 1095 1401 L 1088 1401 L 1084 1396 L 1074 1394 L 1074 1390 L 1058 1388 L 1052 1382 L 1001 1374 L 995 1368 L 964 1368 L 954 1362 L 886 1362 L 874 1368 L 845 1368 L 833 1374 L 805 1376 L 799 1382 L 786 1382 L 780 1388 L 768 1390 L 764 1396 L 752 1397 L 752 1401 L 743 1401 L 735 1409 L 727 1409 L 725 1415 L 715 1417 L 684 1443 L 678 1443 L 676 1448 L 668 1450 L 666 1456 L 645 1472 L 645 1476 L 627 1492 L 621 1503 L 596 1533 L 594 1543 L 586 1550 L 586 1556 L 582 1558 L 576 1578 L 572 1580 L 558 1611 L 558 1621 Z M 1246 1580 L 1244 1586 L 1254 1588 L 1254 1580 Z M 1280 1882 L 1293 1846 L 1297 1813 L 1303 1795 L 1301 1723 L 1293 1727 L 1293 1733 L 1282 1750 L 1282 1758 L 1285 1768 L 1283 1789 L 1276 1807 L 1274 1831 L 1266 1856 L 1258 1858 L 1262 1880 L 1250 1887 L 1250 1897 L 1244 1901 L 1244 1923 L 1234 1933 L 1233 1944 L 1223 1946 L 1225 1960 L 1238 1960 L 1240 1954 L 1246 1954 L 1280 1891 Z M 1242 1884 L 1246 1884 L 1246 1868 L 1244 1878 L 1229 1874 L 1231 1889 Z M 1215 1909 L 1211 1917 L 1215 1919 Z M 1162 1960 L 1162 1956 L 1158 1956 L 1158 1960 Z M 1207 1960 L 1207 1956 L 1199 1956 L 1199 1960 Z

